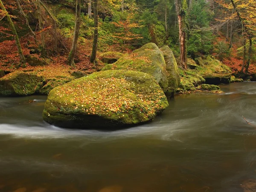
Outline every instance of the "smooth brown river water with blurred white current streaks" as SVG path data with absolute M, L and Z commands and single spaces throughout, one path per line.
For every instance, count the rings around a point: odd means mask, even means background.
M 46 96 L 0 98 L 0 192 L 255 192 L 256 83 L 221 88 L 119 131 L 48 125 Z

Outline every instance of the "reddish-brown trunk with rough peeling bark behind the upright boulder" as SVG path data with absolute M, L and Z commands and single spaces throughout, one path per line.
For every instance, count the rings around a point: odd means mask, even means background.
M 180 66 L 186 69 L 186 25 L 185 25 L 185 10 L 183 10 L 181 0 L 175 0 L 175 8 L 178 16 L 179 24 L 179 40 L 180 40 Z

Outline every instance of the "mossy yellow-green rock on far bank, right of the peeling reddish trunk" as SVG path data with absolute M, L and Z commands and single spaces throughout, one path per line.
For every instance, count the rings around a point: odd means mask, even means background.
M 207 58 L 197 58 L 197 67 L 200 70 L 206 84 L 229 84 L 232 76 L 232 71 L 221 61 L 208 56 Z

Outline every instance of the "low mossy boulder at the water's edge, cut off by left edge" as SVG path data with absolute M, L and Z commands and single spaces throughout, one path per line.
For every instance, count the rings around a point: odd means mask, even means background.
M 0 96 L 28 96 L 41 87 L 42 78 L 32 73 L 15 71 L 0 79 Z

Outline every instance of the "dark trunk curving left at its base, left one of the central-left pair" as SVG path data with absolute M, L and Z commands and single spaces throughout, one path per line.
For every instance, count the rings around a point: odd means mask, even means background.
M 81 16 L 81 0 L 76 0 L 76 24 L 75 24 L 72 48 L 70 50 L 70 54 L 67 59 L 67 64 L 71 66 L 75 66 L 74 58 L 76 54 L 77 40 L 79 36 L 80 16 Z

